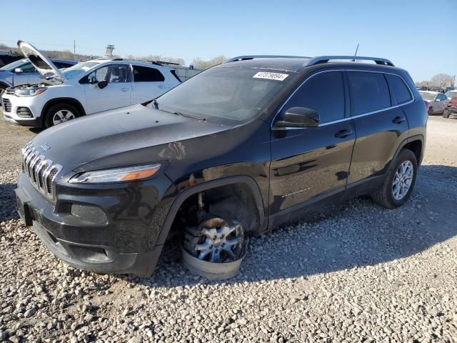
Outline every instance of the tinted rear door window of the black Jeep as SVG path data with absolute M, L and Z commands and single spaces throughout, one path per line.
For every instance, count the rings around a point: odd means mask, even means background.
M 386 78 L 380 73 L 348 71 L 353 115 L 379 111 L 391 106 Z

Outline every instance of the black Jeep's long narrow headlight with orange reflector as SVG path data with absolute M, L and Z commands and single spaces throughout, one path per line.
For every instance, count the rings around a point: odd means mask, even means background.
M 124 168 L 96 170 L 75 175 L 69 182 L 71 184 L 105 184 L 110 182 L 126 182 L 152 177 L 160 169 L 160 164 L 147 164 L 143 166 L 127 166 Z

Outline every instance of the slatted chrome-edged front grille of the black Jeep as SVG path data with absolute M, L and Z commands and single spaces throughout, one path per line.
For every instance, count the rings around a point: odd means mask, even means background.
M 49 199 L 55 199 L 56 184 L 54 180 L 62 170 L 60 164 L 53 164 L 53 161 L 46 159 L 46 156 L 40 155 L 39 151 L 29 142 L 22 149 L 22 167 L 36 189 Z

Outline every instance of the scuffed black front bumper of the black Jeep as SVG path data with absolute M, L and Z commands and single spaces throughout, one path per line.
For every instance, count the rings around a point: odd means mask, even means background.
M 156 209 L 161 206 L 154 206 L 152 202 L 158 198 L 150 197 L 149 207 L 154 210 L 145 212 L 143 209 L 139 213 L 141 204 L 135 203 L 131 195 L 135 192 L 144 195 L 142 190 L 152 195 L 151 187 L 145 183 L 136 191 L 69 189 L 66 194 L 59 193 L 53 204 L 35 189 L 23 172 L 16 189 L 16 204 L 24 224 L 33 225 L 41 242 L 71 266 L 103 274 L 146 277 L 154 272 L 159 260 L 163 244 L 156 243 L 165 219 L 162 217 L 168 212 L 162 207 L 157 213 Z M 123 199 L 126 193 L 129 199 Z M 106 222 L 89 222 L 75 216 L 71 213 L 71 204 L 101 209 L 106 214 Z

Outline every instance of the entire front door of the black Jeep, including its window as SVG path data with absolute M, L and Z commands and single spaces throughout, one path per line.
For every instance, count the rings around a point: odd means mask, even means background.
M 346 118 L 344 84 L 341 71 L 314 74 L 283 106 L 281 113 L 291 107 L 313 109 L 320 124 L 273 129 L 270 215 L 345 189 L 356 134 L 352 119 Z

